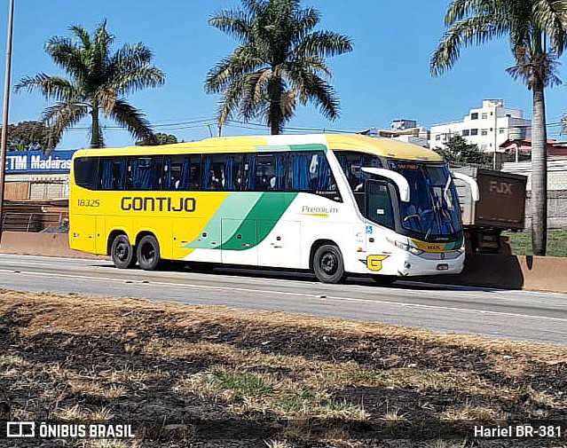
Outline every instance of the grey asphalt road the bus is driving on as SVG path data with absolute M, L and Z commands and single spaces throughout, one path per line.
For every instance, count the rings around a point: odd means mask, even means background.
M 209 273 L 119 270 L 110 262 L 0 255 L 0 287 L 144 297 L 177 303 L 282 310 L 449 333 L 567 345 L 567 295 L 371 279 L 325 285 L 310 274 L 217 268 Z

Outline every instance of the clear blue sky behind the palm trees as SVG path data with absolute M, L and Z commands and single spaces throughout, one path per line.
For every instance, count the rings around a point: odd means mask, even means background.
M 388 128 L 394 119 L 432 124 L 461 120 L 484 98 L 503 98 L 506 106 L 524 110 L 532 118 L 532 94 L 514 81 L 505 69 L 513 65 L 506 41 L 494 41 L 461 52 L 461 59 L 445 75 L 429 75 L 431 52 L 444 32 L 447 1 L 421 0 L 404 4 L 398 0 L 303 0 L 303 6 L 319 10 L 319 29 L 349 35 L 354 50 L 328 59 L 332 83 L 341 99 L 341 117 L 327 121 L 316 107 L 300 107 L 288 123 L 289 130 L 358 131 Z M 154 51 L 154 65 L 166 75 L 158 89 L 139 91 L 128 97 L 142 109 L 154 130 L 174 134 L 179 140 L 199 140 L 213 132 L 218 97 L 203 90 L 203 81 L 217 61 L 237 45 L 229 35 L 210 27 L 209 17 L 220 9 L 240 6 L 240 0 L 15 0 L 12 48 L 12 85 L 23 76 L 44 72 L 63 75 L 43 50 L 54 35 L 68 36 L 71 24 L 93 31 L 107 20 L 115 35 L 114 50 L 123 43 L 145 43 Z M 0 43 L 5 54 L 8 0 L 0 11 Z M 562 66 L 559 77 L 567 80 Z M 4 85 L 4 71 L 2 73 Z M 567 87 L 547 90 L 547 122 L 550 138 L 558 138 L 558 122 L 567 111 Z M 37 120 L 49 106 L 39 94 L 12 94 L 10 122 Z M 131 145 L 126 130 L 106 122 L 107 146 Z M 58 149 L 89 144 L 88 122 L 69 130 Z M 263 134 L 267 128 L 227 126 L 224 135 Z

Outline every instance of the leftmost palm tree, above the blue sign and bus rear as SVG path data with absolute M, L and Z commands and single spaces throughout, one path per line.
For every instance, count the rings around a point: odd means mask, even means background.
M 69 30 L 75 40 L 53 37 L 45 44 L 45 50 L 70 79 L 39 73 L 20 79 L 15 86 L 16 91 L 39 90 L 46 99 L 57 101 L 47 107 L 42 116 L 43 122 L 51 126 L 53 140 L 59 142 L 67 128 L 89 114 L 91 147 L 104 146 L 100 114 L 119 123 L 135 138 L 152 136 L 145 114 L 123 98 L 136 90 L 165 82 L 161 70 L 151 65 L 152 52 L 142 43 L 127 43 L 111 54 L 114 35 L 106 31 L 106 20 L 92 37 L 80 26 Z

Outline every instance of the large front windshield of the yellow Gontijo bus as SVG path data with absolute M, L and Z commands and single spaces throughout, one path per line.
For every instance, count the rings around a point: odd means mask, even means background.
M 390 160 L 388 168 L 406 177 L 410 187 L 409 202 L 399 203 L 404 230 L 421 240 L 449 240 L 461 232 L 457 193 L 444 164 Z

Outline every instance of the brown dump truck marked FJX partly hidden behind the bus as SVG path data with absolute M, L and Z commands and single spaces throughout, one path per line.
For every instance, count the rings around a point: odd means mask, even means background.
M 452 170 L 473 177 L 480 193 L 472 200 L 470 186 L 455 178 L 467 252 L 503 252 L 501 232 L 524 230 L 527 177 L 473 167 Z

